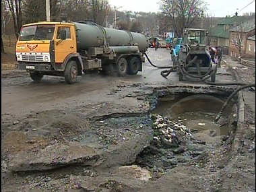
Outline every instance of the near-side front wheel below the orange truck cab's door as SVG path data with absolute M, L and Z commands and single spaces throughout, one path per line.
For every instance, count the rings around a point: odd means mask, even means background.
M 77 63 L 75 61 L 67 62 L 64 76 L 67 84 L 74 84 L 77 81 Z

